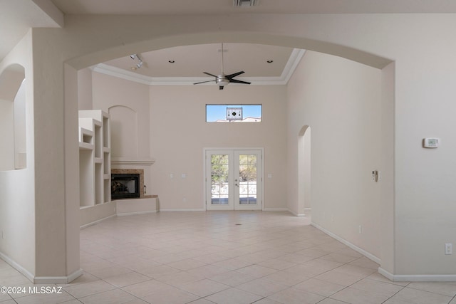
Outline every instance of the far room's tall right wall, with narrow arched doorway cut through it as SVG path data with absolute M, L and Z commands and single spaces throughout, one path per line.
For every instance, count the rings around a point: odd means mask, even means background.
M 307 51 L 288 85 L 289 208 L 301 127 L 311 137 L 312 222 L 380 257 L 380 70 Z M 362 226 L 363 233 L 358 228 Z

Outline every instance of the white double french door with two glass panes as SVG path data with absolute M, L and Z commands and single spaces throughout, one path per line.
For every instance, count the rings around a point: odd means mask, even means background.
M 261 150 L 206 150 L 206 209 L 261 210 Z

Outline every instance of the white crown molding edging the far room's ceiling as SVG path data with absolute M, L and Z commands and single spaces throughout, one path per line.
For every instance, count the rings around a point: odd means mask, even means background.
M 280 76 L 276 77 L 239 77 L 237 79 L 248 81 L 252 85 L 286 85 L 294 70 L 298 66 L 301 58 L 306 53 L 306 50 L 294 48 L 291 52 L 290 58 L 287 61 L 284 70 Z M 110 75 L 116 78 L 130 80 L 135 83 L 141 83 L 143 85 L 193 85 L 199 81 L 207 80 L 207 77 L 150 77 L 141 75 L 130 70 L 124 70 L 122 68 L 116 68 L 112 65 L 105 63 L 99 63 L 93 65 L 91 68 L 94 72 Z M 213 83 L 202 83 L 201 85 L 214 85 Z M 237 83 L 230 83 L 230 85 L 238 85 Z

